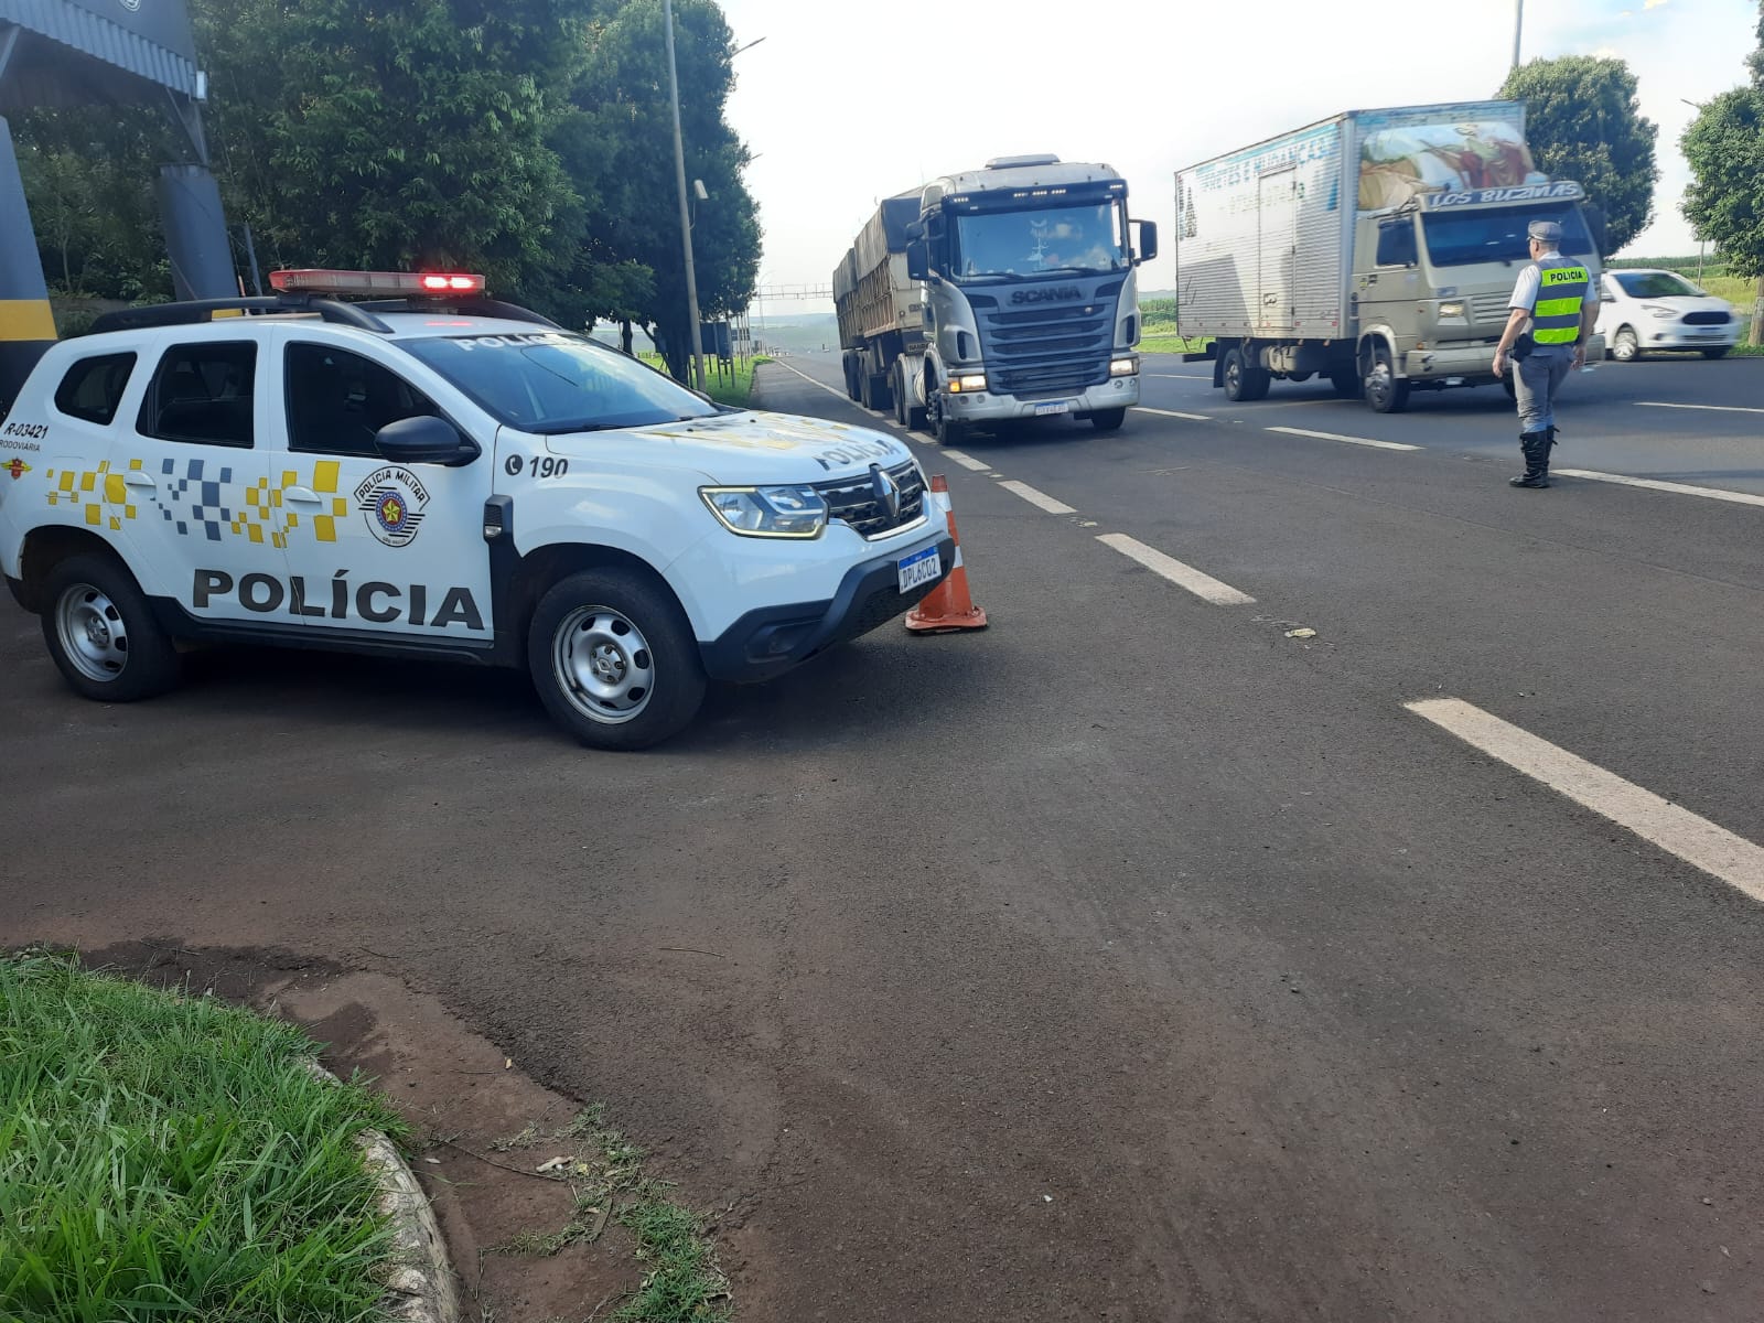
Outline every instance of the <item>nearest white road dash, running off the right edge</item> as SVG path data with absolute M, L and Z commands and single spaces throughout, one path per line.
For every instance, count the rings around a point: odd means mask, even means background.
M 1461 699 L 1404 704 L 1508 767 L 1764 901 L 1764 848 Z

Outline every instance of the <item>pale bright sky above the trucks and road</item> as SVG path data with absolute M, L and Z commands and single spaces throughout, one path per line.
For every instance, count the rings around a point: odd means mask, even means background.
M 721 5 L 736 46 L 764 39 L 736 56 L 727 106 L 755 157 L 762 291 L 826 286 L 877 199 L 1025 152 L 1118 169 L 1162 247 L 1140 288 L 1170 289 L 1178 168 L 1344 109 L 1492 97 L 1514 55 L 1514 0 Z M 1628 256 L 1697 250 L 1679 213 L 1685 101 L 1746 81 L 1757 18 L 1757 0 L 1524 0 L 1522 60 L 1626 60 L 1660 125 L 1655 220 Z

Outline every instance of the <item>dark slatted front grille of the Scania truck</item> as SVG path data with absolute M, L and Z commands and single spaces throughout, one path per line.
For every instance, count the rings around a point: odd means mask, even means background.
M 981 332 L 988 390 L 1037 399 L 1108 381 L 1115 346 L 1115 296 L 1104 286 L 1087 303 L 1002 312 L 990 296 L 970 298 Z

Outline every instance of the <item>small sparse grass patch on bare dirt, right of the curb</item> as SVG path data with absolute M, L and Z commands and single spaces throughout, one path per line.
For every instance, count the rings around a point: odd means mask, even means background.
M 727 1323 L 729 1281 L 716 1265 L 706 1219 L 669 1198 L 670 1182 L 644 1175 L 644 1150 L 607 1124 L 594 1102 L 550 1134 L 527 1125 L 492 1145 L 499 1152 L 554 1154 L 542 1170 L 570 1187 L 570 1217 L 554 1231 L 522 1231 L 494 1254 L 549 1258 L 577 1242 L 594 1242 L 616 1217 L 637 1240 L 647 1265 L 642 1284 L 614 1311 L 614 1323 Z

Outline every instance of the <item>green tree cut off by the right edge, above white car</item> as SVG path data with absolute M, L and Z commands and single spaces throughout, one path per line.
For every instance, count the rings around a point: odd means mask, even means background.
M 1757 35 L 1746 60 L 1752 83 L 1708 102 L 1681 145 L 1692 173 L 1685 219 L 1715 240 L 1734 275 L 1759 280 L 1752 344 L 1764 344 L 1764 0 Z

